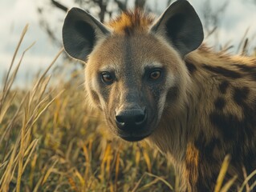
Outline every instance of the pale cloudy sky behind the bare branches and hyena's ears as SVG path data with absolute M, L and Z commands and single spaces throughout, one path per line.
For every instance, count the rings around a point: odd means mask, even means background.
M 132 5 L 133 0 L 128 0 Z M 202 13 L 205 9 L 203 2 L 207 0 L 190 0 L 197 14 L 201 20 L 203 20 Z M 238 43 L 242 39 L 249 29 L 246 37 L 250 39 L 250 51 L 256 46 L 256 3 L 252 3 L 253 0 L 227 0 L 229 2 L 226 7 L 225 13 L 222 15 L 219 29 L 220 42 L 225 45 L 230 42 L 230 45 L 234 45 L 234 52 L 236 52 Z M 39 15 L 36 11 L 37 6 L 43 3 L 49 3 L 50 0 L 1 0 L 0 1 L 0 83 L 2 83 L 2 74 L 8 69 L 12 55 L 14 54 L 15 46 L 18 43 L 18 39 L 22 32 L 22 28 L 29 23 L 29 30 L 26 34 L 19 54 L 22 54 L 22 50 L 30 46 L 32 42 L 36 42 L 27 53 L 22 62 L 22 66 L 19 70 L 19 76 L 21 80 L 29 75 L 33 76 L 35 72 L 40 69 L 46 68 L 51 60 L 55 57 L 55 54 L 59 51 L 59 48 L 52 45 L 50 39 L 45 34 L 44 30 L 39 26 Z M 75 6 L 71 0 L 61 1 L 64 5 L 71 8 Z M 147 5 L 152 10 L 157 10 L 161 13 L 165 10 L 166 0 L 147 1 Z M 223 2 L 223 0 L 210 0 L 213 10 L 217 10 Z M 53 24 L 56 25 L 55 33 L 61 37 L 62 19 L 65 14 L 58 10 L 53 9 L 51 15 L 46 17 L 51 18 Z M 204 21 L 202 21 L 204 23 Z M 214 45 L 214 37 L 208 39 L 209 46 Z M 18 57 L 19 58 L 19 57 Z M 18 60 L 16 61 L 16 63 Z M 21 83 L 22 81 L 20 81 Z

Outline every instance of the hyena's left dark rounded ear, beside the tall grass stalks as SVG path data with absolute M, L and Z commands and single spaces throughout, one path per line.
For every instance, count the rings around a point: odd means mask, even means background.
M 95 42 L 110 34 L 110 31 L 97 19 L 79 8 L 67 12 L 63 23 L 63 46 L 72 58 L 86 62 L 87 55 Z

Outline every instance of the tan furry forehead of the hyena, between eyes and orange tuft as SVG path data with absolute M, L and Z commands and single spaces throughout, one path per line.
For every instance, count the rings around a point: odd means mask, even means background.
M 129 66 L 140 73 L 146 68 L 165 67 L 175 72 L 181 67 L 180 62 L 177 51 L 152 34 L 135 34 L 129 38 L 116 34 L 95 47 L 87 66 L 117 72 Z

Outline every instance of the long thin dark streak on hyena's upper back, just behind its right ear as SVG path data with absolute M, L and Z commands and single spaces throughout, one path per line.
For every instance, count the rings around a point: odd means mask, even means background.
M 226 78 L 242 78 L 242 75 L 234 70 L 228 70 L 222 66 L 207 66 L 203 65 L 205 70 L 209 70 L 215 74 L 221 74 Z

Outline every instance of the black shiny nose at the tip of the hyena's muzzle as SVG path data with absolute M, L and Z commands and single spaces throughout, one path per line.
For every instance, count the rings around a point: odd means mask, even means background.
M 116 114 L 116 125 L 120 130 L 136 130 L 147 121 L 146 110 L 121 110 Z

